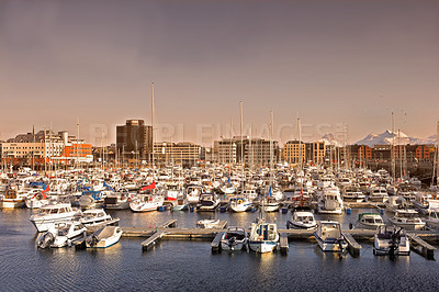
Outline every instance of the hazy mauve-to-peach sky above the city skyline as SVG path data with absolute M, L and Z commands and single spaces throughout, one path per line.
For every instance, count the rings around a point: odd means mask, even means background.
M 126 119 L 210 143 L 245 124 L 267 137 L 439 120 L 439 1 L 0 0 L 1 138 L 52 125 L 98 143 Z M 291 126 L 289 126 L 291 124 Z M 170 132 L 169 132 L 170 131 Z M 279 135 L 279 134 L 278 134 Z M 167 138 L 170 139 L 170 138 Z

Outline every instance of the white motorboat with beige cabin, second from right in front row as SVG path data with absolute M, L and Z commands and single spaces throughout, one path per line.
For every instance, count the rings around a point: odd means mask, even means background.
M 322 221 L 314 232 L 318 246 L 323 251 L 346 251 L 348 244 L 341 234 L 341 227 L 335 221 Z

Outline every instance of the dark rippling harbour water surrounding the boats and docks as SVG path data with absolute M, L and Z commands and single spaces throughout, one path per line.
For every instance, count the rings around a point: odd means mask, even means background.
M 348 228 L 358 212 L 326 216 Z M 122 237 L 99 250 L 37 249 L 37 234 L 27 209 L 0 212 L 0 291 L 91 290 L 203 290 L 203 291 L 379 291 L 439 289 L 439 263 L 412 252 L 395 261 L 372 255 L 371 243 L 361 243 L 359 258 L 324 254 L 316 243 L 290 242 L 286 256 L 254 252 L 212 254 L 209 242 L 164 240 L 147 252 L 144 238 Z M 193 227 L 200 218 L 227 220 L 249 226 L 257 213 L 109 212 L 121 226 L 154 227 L 169 218 Z M 289 214 L 268 214 L 284 228 Z M 437 257 L 437 255 L 436 255 Z

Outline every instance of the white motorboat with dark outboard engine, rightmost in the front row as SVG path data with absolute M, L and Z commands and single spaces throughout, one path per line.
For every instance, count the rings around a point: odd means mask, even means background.
M 375 256 L 408 256 L 410 244 L 404 228 L 395 226 L 379 226 L 373 238 L 373 255 Z

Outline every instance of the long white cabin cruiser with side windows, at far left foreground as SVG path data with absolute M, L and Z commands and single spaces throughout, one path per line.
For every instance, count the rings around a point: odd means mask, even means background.
M 38 232 L 47 232 L 54 223 L 72 221 L 78 215 L 78 211 L 72 210 L 69 203 L 49 204 L 41 207 L 30 221 Z

